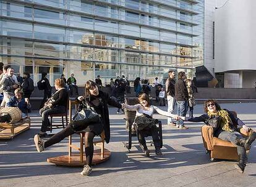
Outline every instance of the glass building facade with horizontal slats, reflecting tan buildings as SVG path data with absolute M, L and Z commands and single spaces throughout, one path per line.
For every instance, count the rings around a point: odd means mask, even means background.
M 0 62 L 37 82 L 75 74 L 77 84 L 191 78 L 203 65 L 203 0 L 0 1 Z

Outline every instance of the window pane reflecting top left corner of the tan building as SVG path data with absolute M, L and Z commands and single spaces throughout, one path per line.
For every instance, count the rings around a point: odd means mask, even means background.
M 67 30 L 67 42 L 93 45 L 93 33 Z

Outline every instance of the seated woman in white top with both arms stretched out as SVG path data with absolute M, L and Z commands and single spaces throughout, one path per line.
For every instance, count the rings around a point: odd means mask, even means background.
M 140 104 L 133 105 L 133 106 L 122 104 L 122 108 L 136 111 L 135 122 L 136 122 L 137 117 L 139 117 L 139 116 L 144 115 L 146 117 L 149 116 L 148 118 L 151 118 L 154 113 L 158 113 L 163 116 L 173 117 L 173 118 L 178 119 L 178 116 L 176 116 L 174 114 L 170 114 L 166 111 L 163 111 L 160 108 L 158 108 L 157 106 L 150 105 L 150 100 L 149 100 L 149 97 L 147 94 L 139 95 L 139 101 L 140 101 Z M 151 135 L 152 135 L 153 143 L 155 145 L 156 155 L 162 155 L 161 149 L 160 149 L 160 138 L 158 137 L 156 125 L 150 125 L 141 130 L 139 130 L 139 128 L 137 128 L 137 129 L 135 128 L 135 130 L 137 131 L 137 137 L 138 137 L 140 146 L 142 146 L 142 149 L 145 153 L 145 156 L 150 155 L 150 150 L 148 150 L 146 141 L 145 141 L 145 135 L 147 135 L 148 133 L 151 133 Z

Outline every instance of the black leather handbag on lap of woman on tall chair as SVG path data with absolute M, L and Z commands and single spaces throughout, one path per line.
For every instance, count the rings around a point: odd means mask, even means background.
M 86 100 L 82 101 L 82 109 L 77 110 L 73 121 L 81 121 L 84 124 L 93 124 L 101 121 L 100 114 L 96 113 L 95 109 L 88 105 Z

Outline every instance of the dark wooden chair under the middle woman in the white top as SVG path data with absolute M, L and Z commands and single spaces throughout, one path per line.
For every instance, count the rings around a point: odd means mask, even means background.
M 129 97 L 129 98 L 126 98 L 125 103 L 128 105 L 136 105 L 136 104 L 139 104 L 139 100 L 137 97 Z M 135 132 L 134 129 L 132 129 L 132 124 L 134 123 L 136 111 L 128 111 L 127 109 L 125 109 L 124 114 L 125 114 L 124 119 L 126 120 L 126 130 L 128 132 L 128 142 L 123 141 L 122 143 L 124 144 L 124 147 L 127 148 L 128 151 L 130 152 L 130 149 L 132 148 L 132 144 L 139 143 L 139 141 L 134 141 L 134 142 L 132 141 L 132 137 L 137 137 L 137 133 Z M 161 121 L 158 121 L 158 136 L 160 138 L 160 143 L 161 143 L 160 148 L 162 148 L 163 133 L 162 133 Z M 150 143 L 150 145 L 153 145 L 153 141 L 149 141 L 147 143 Z

